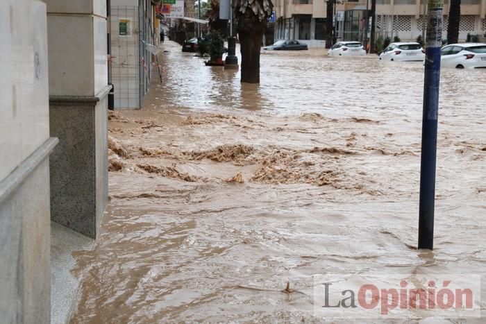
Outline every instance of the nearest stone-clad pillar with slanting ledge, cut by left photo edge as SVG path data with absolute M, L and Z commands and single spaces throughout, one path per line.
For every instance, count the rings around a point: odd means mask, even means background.
M 45 4 L 1 0 L 0 44 L 0 323 L 49 323 Z

